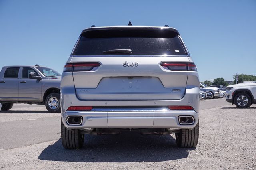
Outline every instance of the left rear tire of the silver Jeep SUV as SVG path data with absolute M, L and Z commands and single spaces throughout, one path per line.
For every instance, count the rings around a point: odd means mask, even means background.
M 67 130 L 61 120 L 61 140 L 66 149 L 80 149 L 84 144 L 84 134 L 78 129 Z

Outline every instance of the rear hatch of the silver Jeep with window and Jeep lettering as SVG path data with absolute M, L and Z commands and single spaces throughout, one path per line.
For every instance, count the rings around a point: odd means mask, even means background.
M 174 29 L 105 28 L 82 32 L 67 68 L 81 100 L 174 100 L 189 62 Z

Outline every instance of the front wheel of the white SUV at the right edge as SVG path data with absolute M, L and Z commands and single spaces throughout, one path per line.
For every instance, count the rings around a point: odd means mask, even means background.
M 234 98 L 234 103 L 238 108 L 247 108 L 252 104 L 252 101 L 246 93 L 238 93 Z

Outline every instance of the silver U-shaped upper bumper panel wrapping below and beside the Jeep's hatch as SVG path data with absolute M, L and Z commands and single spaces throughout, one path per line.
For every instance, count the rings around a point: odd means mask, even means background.
M 74 87 L 74 79 L 72 72 L 62 73 L 61 87 L 60 87 L 60 105 L 62 113 L 65 113 L 70 106 L 191 106 L 198 113 L 200 105 L 200 87 L 197 72 L 188 72 L 188 80 L 186 91 L 182 99 L 173 100 L 104 100 L 97 98 L 97 100 L 80 100 L 76 95 Z M 89 79 L 89 78 L 88 78 Z M 152 89 L 154 91 L 154 89 Z M 133 95 L 124 94 L 124 95 Z

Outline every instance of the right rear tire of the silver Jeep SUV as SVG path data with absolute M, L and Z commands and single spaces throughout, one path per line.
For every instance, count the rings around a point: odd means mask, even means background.
M 199 121 L 192 129 L 180 129 L 179 133 L 175 134 L 176 143 L 180 148 L 194 148 L 198 143 L 199 138 Z

